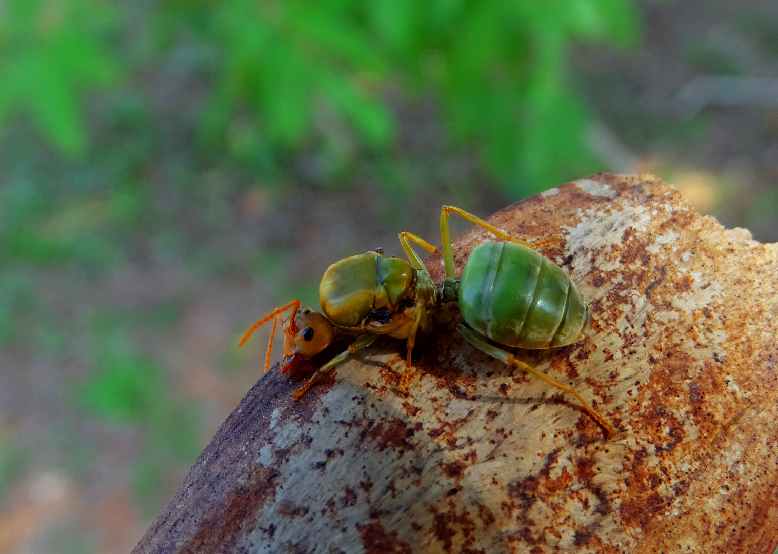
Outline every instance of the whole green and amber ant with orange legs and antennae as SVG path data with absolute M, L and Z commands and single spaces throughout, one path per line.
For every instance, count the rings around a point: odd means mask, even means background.
M 452 212 L 506 241 L 476 247 L 459 279 L 454 275 L 454 251 L 448 225 Z M 584 338 L 591 325 L 591 315 L 578 287 L 562 268 L 533 250 L 559 239 L 528 243 L 454 206 L 443 206 L 440 212 L 440 235 L 446 268 L 442 287 L 435 285 L 412 244 L 429 252 L 436 252 L 437 248 L 413 233 L 403 232 L 398 237 L 410 262 L 402 258 L 385 258 L 380 250 L 337 261 L 324 272 L 319 284 L 322 313 L 300 307 L 300 300 L 293 300 L 252 325 L 240 338 L 240 345 L 261 324 L 273 319 L 265 356 L 267 372 L 275 329 L 282 313 L 289 308 L 292 313 L 283 322 L 282 373 L 301 359 L 309 359 L 326 348 L 335 336 L 334 327 L 357 335 L 345 352 L 321 366 L 303 387 L 295 391 L 294 397 L 300 399 L 322 373 L 373 344 L 378 335 L 405 338 L 408 351 L 405 366 L 411 367 L 416 335 L 426 335 L 432 330 L 436 315 L 442 309 L 441 303 L 457 301 L 467 323 L 457 324 L 457 332 L 466 341 L 509 366 L 573 394 L 587 413 L 605 428 L 608 437 L 615 436 L 613 426 L 573 387 L 548 377 L 486 340 L 491 338 L 502 345 L 524 349 L 548 349 Z

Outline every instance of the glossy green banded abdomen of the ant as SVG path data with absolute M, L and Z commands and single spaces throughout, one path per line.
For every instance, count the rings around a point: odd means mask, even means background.
M 568 345 L 589 323 L 588 307 L 562 268 L 520 244 L 476 247 L 459 287 L 464 321 L 503 345 Z

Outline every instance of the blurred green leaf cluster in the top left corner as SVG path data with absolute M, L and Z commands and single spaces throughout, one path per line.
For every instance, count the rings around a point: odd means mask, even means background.
M 119 73 L 103 37 L 112 19 L 108 6 L 93 0 L 3 2 L 0 125 L 29 114 L 62 153 L 82 153 L 82 93 L 109 85 Z

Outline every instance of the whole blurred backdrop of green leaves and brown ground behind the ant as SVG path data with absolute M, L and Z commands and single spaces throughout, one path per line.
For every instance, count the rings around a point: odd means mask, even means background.
M 251 322 L 602 170 L 778 240 L 778 3 L 0 0 L 0 552 L 128 552 Z

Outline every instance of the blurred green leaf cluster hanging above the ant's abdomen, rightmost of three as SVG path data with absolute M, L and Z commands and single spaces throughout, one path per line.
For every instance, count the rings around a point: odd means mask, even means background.
M 573 40 L 636 42 L 629 2 L 450 2 L 426 33 L 436 40 L 436 81 L 457 142 L 471 143 L 509 195 L 527 195 L 592 170 L 589 116 L 566 79 Z M 442 54 L 442 55 L 440 55 Z M 422 75 L 422 79 L 424 75 Z

